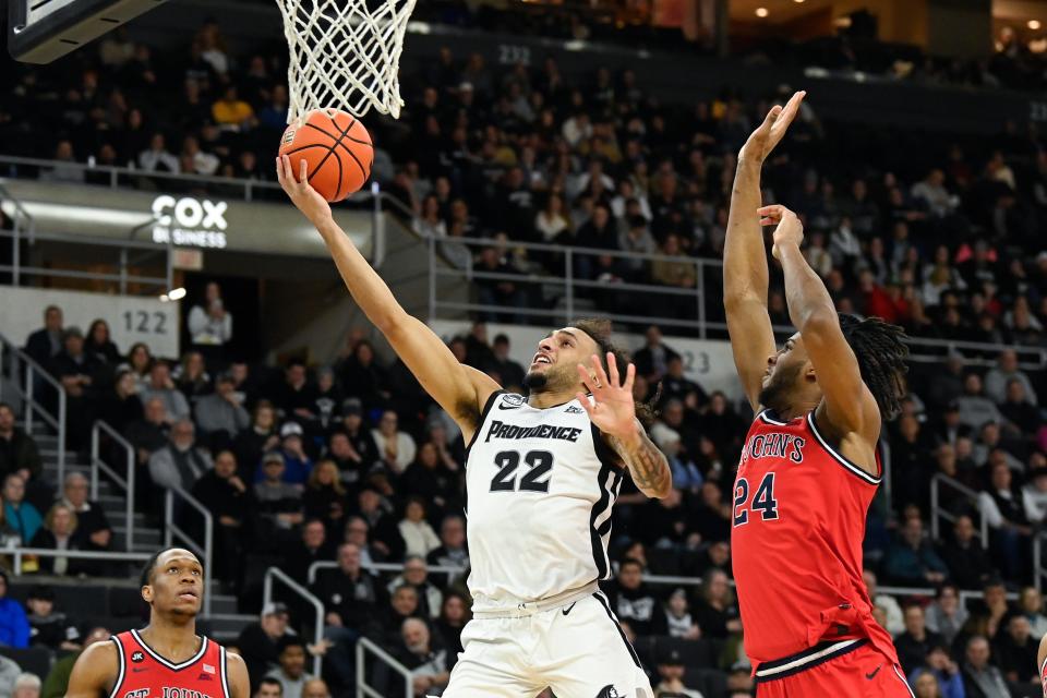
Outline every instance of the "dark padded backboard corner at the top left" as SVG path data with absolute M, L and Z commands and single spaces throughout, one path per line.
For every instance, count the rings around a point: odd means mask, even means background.
M 8 50 L 50 63 L 167 0 L 8 0 Z

